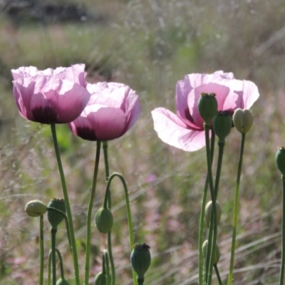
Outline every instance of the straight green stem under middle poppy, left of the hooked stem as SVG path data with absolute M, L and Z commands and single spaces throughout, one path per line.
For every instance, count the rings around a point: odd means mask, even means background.
M 90 193 L 90 199 L 89 199 L 89 205 L 88 205 L 88 211 L 87 211 L 87 220 L 86 220 L 87 233 L 86 233 L 85 285 L 89 284 L 92 209 L 93 209 L 96 183 L 97 183 L 97 177 L 98 177 L 100 147 L 101 147 L 101 142 L 97 141 L 93 182 L 92 182 L 92 187 L 91 187 L 91 193 Z

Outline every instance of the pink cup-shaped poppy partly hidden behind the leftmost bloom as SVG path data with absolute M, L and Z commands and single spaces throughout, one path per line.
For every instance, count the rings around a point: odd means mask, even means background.
M 81 115 L 69 124 L 84 140 L 114 140 L 124 135 L 140 115 L 138 95 L 122 83 L 88 84 L 91 98 Z

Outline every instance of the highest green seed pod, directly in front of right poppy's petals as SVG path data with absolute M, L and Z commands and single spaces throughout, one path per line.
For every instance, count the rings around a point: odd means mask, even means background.
M 205 124 L 211 123 L 212 118 L 217 114 L 217 108 L 215 93 L 201 93 L 198 100 L 198 110 Z

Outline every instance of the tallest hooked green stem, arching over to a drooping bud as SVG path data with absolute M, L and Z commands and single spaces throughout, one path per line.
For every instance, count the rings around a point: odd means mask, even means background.
M 130 200 L 129 200 L 129 196 L 128 196 L 128 186 L 127 183 L 125 182 L 125 179 L 123 177 L 123 175 L 120 175 L 120 173 L 113 173 L 112 175 L 110 175 L 109 179 L 108 179 L 108 183 L 106 186 L 106 189 L 110 191 L 110 183 L 112 182 L 114 177 L 118 177 L 120 178 L 120 181 L 123 184 L 123 188 L 125 191 L 125 209 L 127 212 L 127 219 L 128 219 L 128 230 L 129 230 L 129 241 L 130 241 L 130 252 L 132 252 L 133 250 L 133 244 L 134 244 L 134 238 L 133 238 L 133 224 L 132 224 L 132 216 L 130 214 Z M 104 207 L 107 206 L 106 204 L 106 200 L 108 197 L 108 191 L 105 192 L 105 201 L 104 201 Z M 135 271 L 133 270 L 133 284 L 137 285 L 138 281 L 135 278 Z

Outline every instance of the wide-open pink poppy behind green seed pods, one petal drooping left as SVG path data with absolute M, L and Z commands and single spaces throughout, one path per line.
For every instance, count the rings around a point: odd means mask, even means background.
M 252 81 L 234 79 L 233 73 L 188 74 L 183 81 L 177 82 L 177 114 L 165 108 L 152 110 L 155 130 L 163 142 L 190 152 L 204 147 L 204 122 L 197 108 L 202 92 L 215 93 L 218 110 L 232 112 L 237 108 L 251 108 L 259 98 L 257 86 Z

